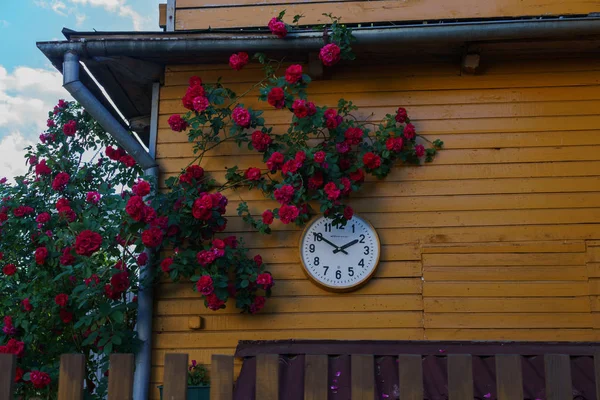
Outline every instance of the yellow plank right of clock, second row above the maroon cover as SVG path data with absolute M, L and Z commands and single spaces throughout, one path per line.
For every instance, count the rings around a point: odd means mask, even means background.
M 425 328 L 592 328 L 592 314 L 426 313 Z

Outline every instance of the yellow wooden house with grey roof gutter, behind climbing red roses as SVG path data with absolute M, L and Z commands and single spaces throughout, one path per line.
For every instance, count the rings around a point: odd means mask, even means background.
M 266 25 L 284 9 L 304 18 L 279 40 Z M 398 167 L 350 201 L 376 229 L 381 259 L 349 293 L 306 277 L 301 229 L 257 234 L 231 195 L 228 232 L 269 264 L 273 298 L 245 315 L 207 310 L 190 285 L 156 288 L 146 298 L 152 333 L 141 332 L 151 398 L 165 353 L 210 364 L 244 340 L 600 340 L 600 1 L 169 0 L 160 12 L 162 32 L 65 30 L 66 41 L 38 47 L 61 71 L 86 66 L 77 77 L 64 71 L 66 84 L 87 90 L 73 97 L 102 107 L 109 130 L 135 131 L 149 154 L 138 161 L 158 166 L 161 181 L 192 160 L 186 134 L 167 124 L 184 112 L 188 79 L 221 77 L 236 92 L 260 80 L 259 64 L 229 68 L 237 51 L 302 63 L 319 105 L 344 97 L 375 120 L 403 106 L 419 133 L 445 146 L 434 162 Z M 326 23 L 324 13 L 353 27 L 356 61 L 325 70 L 315 62 L 323 32 L 310 26 Z M 256 107 L 276 130 L 289 124 L 289 113 Z M 219 179 L 225 167 L 258 161 L 224 147 L 202 166 Z M 270 206 L 258 193 L 240 196 L 256 210 Z

